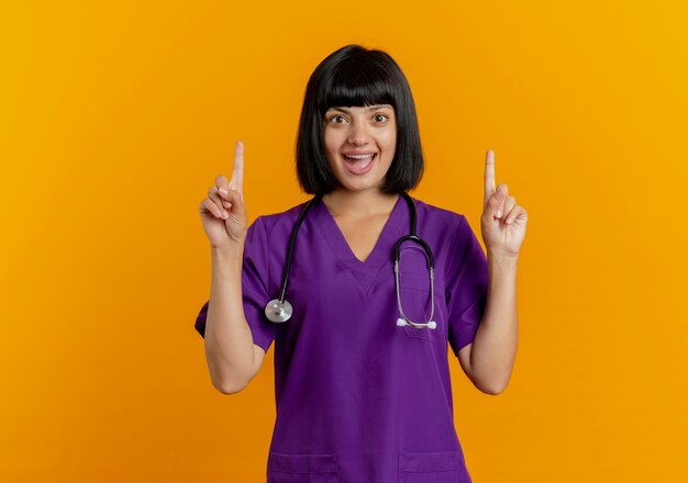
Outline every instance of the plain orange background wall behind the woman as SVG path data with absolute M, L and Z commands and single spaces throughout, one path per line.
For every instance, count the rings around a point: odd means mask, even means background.
M 0 480 L 264 480 L 274 346 L 212 387 L 198 205 L 236 139 L 249 221 L 307 200 L 306 82 L 348 43 L 409 78 L 414 196 L 479 235 L 493 148 L 529 212 L 509 387 L 450 351 L 474 480 L 688 480 L 685 1 L 100 3 L 0 14 Z

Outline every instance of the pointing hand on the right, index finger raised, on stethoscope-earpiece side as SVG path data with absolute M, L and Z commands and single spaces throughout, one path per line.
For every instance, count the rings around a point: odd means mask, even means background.
M 509 194 L 507 184 L 495 188 L 495 153 L 485 158 L 485 199 L 480 228 L 488 256 L 518 258 L 525 237 L 528 212 Z

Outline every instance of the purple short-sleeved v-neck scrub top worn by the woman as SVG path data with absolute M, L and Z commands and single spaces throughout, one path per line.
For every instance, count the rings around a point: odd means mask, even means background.
M 470 482 L 454 427 L 447 342 L 474 340 L 487 299 L 487 258 L 464 215 L 413 199 L 417 234 L 435 263 L 435 329 L 397 326 L 395 243 L 410 231 L 399 196 L 365 261 L 322 200 L 299 229 L 286 299 L 293 315 L 268 322 L 291 231 L 306 203 L 259 216 L 246 234 L 243 304 L 253 340 L 275 341 L 276 420 L 268 483 Z M 422 248 L 401 246 L 403 312 L 430 315 Z M 208 303 L 196 322 L 204 334 Z

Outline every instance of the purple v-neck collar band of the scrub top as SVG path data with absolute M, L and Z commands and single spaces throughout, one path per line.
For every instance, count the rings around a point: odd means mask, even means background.
M 409 224 L 410 215 L 407 213 L 408 206 L 406 204 L 403 196 L 399 195 L 385 222 L 380 236 L 365 261 L 356 258 L 322 198 L 312 210 L 315 215 L 314 218 L 318 221 L 315 225 L 328 240 L 334 255 L 344 266 L 355 272 L 358 281 L 367 289 L 385 262 L 392 259 L 395 243 L 401 236 L 403 227 Z

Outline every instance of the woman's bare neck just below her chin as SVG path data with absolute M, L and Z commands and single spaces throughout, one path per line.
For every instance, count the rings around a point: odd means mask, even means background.
M 399 194 L 387 194 L 378 189 L 365 191 L 336 190 L 322 196 L 332 216 L 366 217 L 389 213 L 395 207 Z

